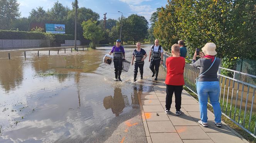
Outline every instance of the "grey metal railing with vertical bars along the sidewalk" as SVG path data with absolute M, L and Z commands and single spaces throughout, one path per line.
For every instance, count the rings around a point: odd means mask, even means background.
M 168 52 L 163 53 L 164 61 L 162 66 L 165 69 L 165 61 L 170 56 L 171 54 Z M 221 74 L 224 70 L 233 72 L 233 76 L 229 77 Z M 191 63 L 186 62 L 184 69 L 185 86 L 196 95 L 195 79 L 199 76 L 199 73 L 199 67 L 193 67 Z M 255 82 L 248 83 L 246 80 L 243 81 L 244 78 L 237 79 L 236 74 L 247 76 L 252 78 L 253 81 L 256 81 L 256 76 L 254 75 L 219 67 L 218 76 L 221 87 L 219 102 L 221 104 L 222 115 L 256 138 L 256 107 L 253 107 L 255 104 L 256 85 Z M 208 104 L 211 105 L 209 101 Z

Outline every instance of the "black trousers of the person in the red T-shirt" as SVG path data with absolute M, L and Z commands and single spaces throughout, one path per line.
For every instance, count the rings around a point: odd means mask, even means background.
M 165 98 L 165 108 L 170 110 L 172 104 L 172 95 L 175 94 L 175 107 L 176 111 L 180 111 L 181 106 L 181 93 L 183 90 L 182 85 L 166 85 L 166 98 Z

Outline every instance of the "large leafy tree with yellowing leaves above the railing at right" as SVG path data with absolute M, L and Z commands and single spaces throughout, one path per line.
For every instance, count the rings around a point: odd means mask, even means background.
M 255 58 L 255 0 L 168 0 L 154 35 L 170 47 L 183 39 L 190 54 L 213 42 L 220 58 Z

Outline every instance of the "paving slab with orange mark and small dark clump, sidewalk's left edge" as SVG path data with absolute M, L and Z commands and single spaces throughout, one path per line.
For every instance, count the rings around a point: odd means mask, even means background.
M 165 112 L 145 112 L 147 121 L 170 121 Z

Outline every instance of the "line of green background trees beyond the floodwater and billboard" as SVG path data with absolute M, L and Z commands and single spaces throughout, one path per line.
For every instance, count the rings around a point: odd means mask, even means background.
M 19 3 L 17 0 L 0 0 L 0 30 L 16 31 L 41 31 L 45 32 L 45 23 L 65 24 L 66 34 L 74 35 L 75 3 L 72 8 L 64 7 L 59 1 L 53 4 L 47 11 L 43 7 L 37 7 L 29 12 L 28 17 L 20 17 Z M 77 39 L 82 44 L 90 42 L 92 48 L 96 44 L 113 43 L 120 36 L 121 18 L 118 20 L 99 20 L 99 14 L 90 8 L 77 8 Z M 144 16 L 136 14 L 122 19 L 122 41 L 135 43 L 143 41 L 148 35 L 148 21 Z

